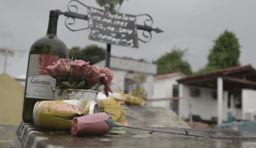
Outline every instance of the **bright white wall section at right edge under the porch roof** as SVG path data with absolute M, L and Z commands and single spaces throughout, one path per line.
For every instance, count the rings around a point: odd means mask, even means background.
M 256 109 L 256 90 L 242 89 L 242 118 L 245 119 L 247 110 Z

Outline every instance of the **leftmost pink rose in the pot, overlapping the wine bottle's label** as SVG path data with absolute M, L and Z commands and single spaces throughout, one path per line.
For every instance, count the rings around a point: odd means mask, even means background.
M 70 64 L 71 59 L 59 59 L 57 62 L 53 63 L 54 65 L 47 66 L 45 71 L 49 73 L 54 79 L 59 77 L 66 77 L 68 74 L 68 70 L 66 68 L 66 64 Z

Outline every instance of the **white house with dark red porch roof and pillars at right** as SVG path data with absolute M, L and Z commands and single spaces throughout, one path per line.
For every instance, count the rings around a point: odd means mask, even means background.
M 256 120 L 256 70 L 237 66 L 178 79 L 179 116 L 192 114 L 202 120 Z M 255 114 L 255 116 L 254 116 Z M 230 116 L 229 116 L 230 117 Z

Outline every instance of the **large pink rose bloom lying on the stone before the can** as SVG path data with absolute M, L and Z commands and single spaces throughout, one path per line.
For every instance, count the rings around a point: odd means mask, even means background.
M 112 125 L 113 124 L 113 125 Z M 73 118 L 72 135 L 104 135 L 114 127 L 109 114 L 96 113 Z

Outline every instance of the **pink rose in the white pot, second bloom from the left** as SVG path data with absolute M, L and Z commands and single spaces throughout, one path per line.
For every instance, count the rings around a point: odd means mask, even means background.
M 71 69 L 73 74 L 77 79 L 84 76 L 86 78 L 88 76 L 88 68 L 90 65 L 88 65 L 89 62 L 84 62 L 83 60 L 75 60 L 75 62 L 72 62 Z

